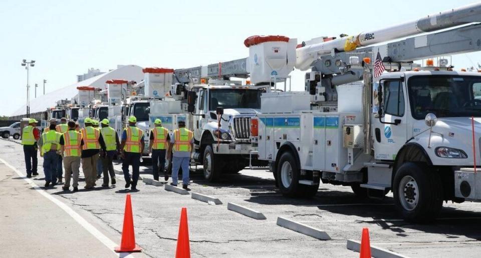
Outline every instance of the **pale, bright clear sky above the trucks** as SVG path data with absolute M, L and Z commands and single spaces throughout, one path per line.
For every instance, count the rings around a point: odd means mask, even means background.
M 473 0 L 2 0 L 0 115 L 26 102 L 22 59 L 36 60 L 30 84 L 46 92 L 77 81 L 88 68 L 117 64 L 185 68 L 247 57 L 244 39 L 285 35 L 309 40 L 355 35 Z M 456 68 L 477 66 L 481 53 L 452 56 Z M 304 72 L 291 73 L 293 90 Z M 31 90 L 34 97 L 34 87 Z

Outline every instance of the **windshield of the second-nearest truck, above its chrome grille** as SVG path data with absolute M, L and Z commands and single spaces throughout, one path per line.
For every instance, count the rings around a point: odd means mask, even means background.
M 220 88 L 210 90 L 209 110 L 223 108 L 261 108 L 261 90 Z

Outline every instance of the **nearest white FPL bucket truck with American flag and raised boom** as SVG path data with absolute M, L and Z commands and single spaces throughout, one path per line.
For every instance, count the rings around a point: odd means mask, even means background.
M 481 50 L 481 24 L 471 24 L 479 21 L 476 3 L 357 36 L 285 45 L 297 68 L 311 68 L 305 91 L 268 87 L 252 127 L 281 192 L 312 196 L 321 181 L 359 196 L 391 190 L 411 221 L 432 219 L 443 200 L 481 199 L 481 73 L 453 71 L 444 58 L 437 66 L 412 62 Z M 414 37 L 370 46 L 406 36 Z M 251 73 L 272 70 L 275 81 L 279 73 L 262 56 L 283 42 L 263 44 L 250 46 Z

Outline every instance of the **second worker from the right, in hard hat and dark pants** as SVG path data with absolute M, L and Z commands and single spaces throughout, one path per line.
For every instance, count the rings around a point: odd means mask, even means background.
M 160 172 L 164 174 L 165 180 L 169 177 L 164 172 L 165 170 L 165 149 L 168 146 L 169 131 L 162 126 L 162 120 L 155 119 L 155 127 L 150 130 L 149 153 L 152 153 L 152 174 L 154 180 L 159 180 L 159 165 Z

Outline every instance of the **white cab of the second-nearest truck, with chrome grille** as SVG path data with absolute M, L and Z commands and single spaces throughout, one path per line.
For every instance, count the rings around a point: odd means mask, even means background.
M 230 84 L 195 89 L 194 160 L 203 165 L 204 177 L 208 180 L 217 179 L 222 172 L 242 170 L 249 165 L 252 152 L 257 150 L 251 144 L 251 118 L 260 111 L 263 90 Z M 267 165 L 257 159 L 254 163 Z

